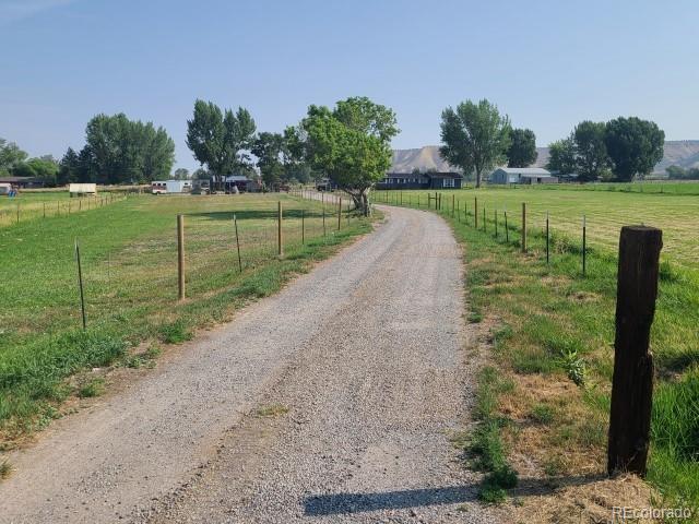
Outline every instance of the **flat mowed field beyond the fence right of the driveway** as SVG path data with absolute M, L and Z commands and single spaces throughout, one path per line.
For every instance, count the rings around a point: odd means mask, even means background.
M 588 226 L 589 246 L 614 250 L 618 246 L 619 229 L 624 225 L 645 224 L 663 230 L 663 260 L 672 261 L 684 267 L 699 269 L 699 184 L 666 184 L 666 191 L 660 192 L 661 184 L 601 184 L 596 186 L 552 186 L 534 188 L 494 188 L 479 190 L 464 189 L 442 191 L 442 211 L 454 205 L 463 214 L 464 207 L 473 214 L 474 199 L 478 199 L 479 221 L 485 216 L 487 228 L 495 229 L 497 213 L 498 226 L 503 230 L 505 212 L 510 227 L 521 227 L 522 203 L 528 206 L 528 225 L 532 233 L 541 233 L 549 215 L 549 227 L 554 235 L 562 234 L 570 240 L 582 238 L 583 216 Z M 668 192 L 671 188 L 678 192 Z M 604 188 L 604 189 L 602 189 Z M 628 190 L 625 190 L 628 188 Z M 650 189 L 648 189 L 650 188 Z M 650 191 L 653 192 L 650 192 Z M 696 190 L 696 193 L 695 193 Z M 378 191 L 375 201 L 400 203 L 401 191 Z M 427 207 L 427 195 L 435 192 L 402 191 L 404 205 Z M 694 194 L 692 194 L 694 193 Z M 433 204 L 434 206 L 434 201 Z M 513 235 L 519 233 L 513 231 Z

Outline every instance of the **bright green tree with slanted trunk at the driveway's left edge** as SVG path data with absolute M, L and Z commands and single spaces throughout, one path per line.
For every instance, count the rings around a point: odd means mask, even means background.
M 399 133 L 393 110 L 367 97 L 351 97 L 332 110 L 310 106 L 301 129 L 309 164 L 369 214 L 369 190 L 391 167 L 391 139 Z

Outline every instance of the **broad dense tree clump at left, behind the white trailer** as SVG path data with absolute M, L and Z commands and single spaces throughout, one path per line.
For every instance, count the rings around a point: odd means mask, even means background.
M 85 142 L 80 153 L 68 148 L 57 183 L 150 182 L 169 178 L 175 163 L 175 142 L 164 128 L 129 120 L 122 112 L 92 118 Z

